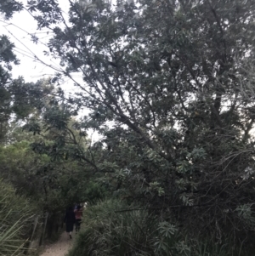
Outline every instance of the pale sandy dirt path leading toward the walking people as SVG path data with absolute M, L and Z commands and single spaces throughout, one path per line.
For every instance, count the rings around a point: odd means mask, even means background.
M 45 251 L 41 254 L 41 256 L 65 256 L 65 254 L 68 253 L 68 250 L 71 248 L 74 236 L 75 234 L 73 233 L 73 238 L 71 240 L 66 232 L 64 232 L 60 236 L 58 242 L 45 247 Z

